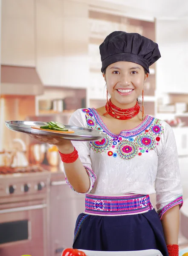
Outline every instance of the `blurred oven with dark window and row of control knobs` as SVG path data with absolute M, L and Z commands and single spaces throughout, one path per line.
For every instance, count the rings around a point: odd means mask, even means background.
M 0 177 L 0 255 L 49 256 L 49 173 Z

